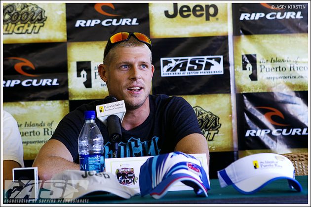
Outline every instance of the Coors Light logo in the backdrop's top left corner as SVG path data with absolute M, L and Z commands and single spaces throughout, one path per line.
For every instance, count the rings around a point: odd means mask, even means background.
M 38 34 L 44 26 L 44 10 L 33 3 L 12 3 L 3 7 L 3 34 Z

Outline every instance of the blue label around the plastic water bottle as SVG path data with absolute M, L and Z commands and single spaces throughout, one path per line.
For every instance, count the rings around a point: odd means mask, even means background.
M 98 155 L 80 155 L 81 171 L 96 171 L 96 173 L 104 172 L 104 156 Z

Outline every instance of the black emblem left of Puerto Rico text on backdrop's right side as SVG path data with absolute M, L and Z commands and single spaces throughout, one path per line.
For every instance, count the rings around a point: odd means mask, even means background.
M 256 54 L 242 55 L 242 70 L 248 71 L 252 81 L 257 79 L 257 58 Z

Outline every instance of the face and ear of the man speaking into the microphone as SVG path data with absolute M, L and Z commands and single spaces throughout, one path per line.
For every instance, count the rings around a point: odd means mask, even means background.
M 109 94 L 124 100 L 127 109 L 136 109 L 145 103 L 154 70 L 147 47 L 115 48 L 110 63 L 99 67 Z

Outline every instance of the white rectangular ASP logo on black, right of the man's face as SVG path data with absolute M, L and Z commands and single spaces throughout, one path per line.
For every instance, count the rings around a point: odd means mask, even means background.
M 161 76 L 224 74 L 223 56 L 161 58 Z

